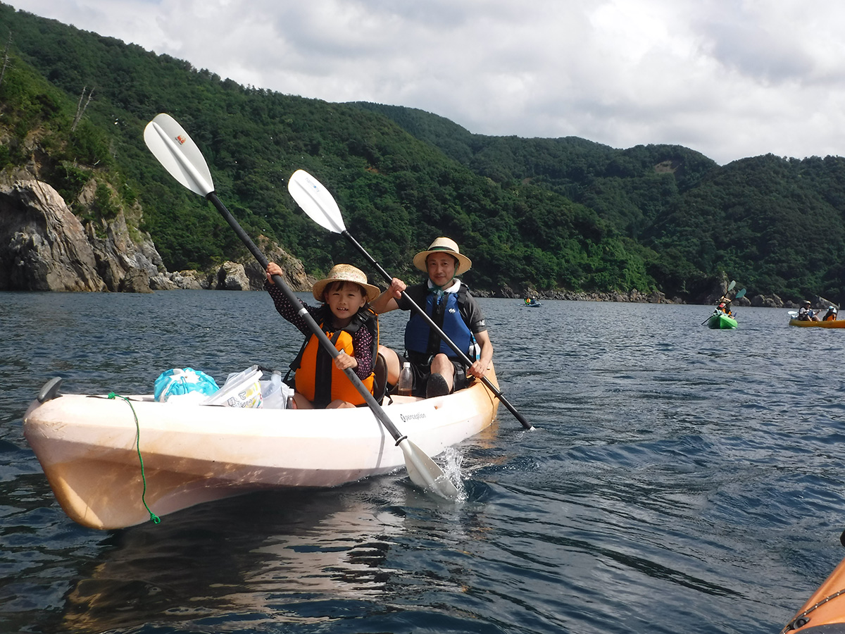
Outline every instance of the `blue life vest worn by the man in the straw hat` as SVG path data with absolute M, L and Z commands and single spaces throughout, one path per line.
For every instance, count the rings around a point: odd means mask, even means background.
M 463 303 L 466 303 L 466 287 L 461 284 L 458 292 L 444 292 L 439 296 L 437 293 L 428 292 L 424 308 L 440 330 L 455 342 L 455 346 L 474 361 L 478 358 L 477 345 L 472 331 L 461 316 Z M 405 326 L 405 349 L 408 353 L 429 357 L 444 353 L 449 358 L 460 360 L 450 345 L 442 341 L 437 332 L 416 312 L 412 312 L 411 319 Z

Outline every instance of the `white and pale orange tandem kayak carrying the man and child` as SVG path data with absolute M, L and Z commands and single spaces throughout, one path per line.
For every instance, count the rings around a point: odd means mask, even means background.
M 492 366 L 487 377 L 498 390 Z M 45 390 L 24 415 L 24 435 L 59 505 L 85 527 L 133 526 L 259 489 L 333 487 L 406 464 L 368 407 L 253 409 Z M 488 427 L 499 399 L 475 381 L 448 396 L 385 397 L 383 407 L 436 456 Z

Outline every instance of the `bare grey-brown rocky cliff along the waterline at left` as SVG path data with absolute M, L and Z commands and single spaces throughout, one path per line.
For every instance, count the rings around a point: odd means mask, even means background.
M 266 238 L 257 243 L 285 269 L 290 287 L 310 289 L 302 262 Z M 0 180 L 0 291 L 249 290 L 263 282 L 254 261 L 169 273 L 149 235 L 132 238 L 123 210 L 112 221 L 83 225 L 47 183 Z

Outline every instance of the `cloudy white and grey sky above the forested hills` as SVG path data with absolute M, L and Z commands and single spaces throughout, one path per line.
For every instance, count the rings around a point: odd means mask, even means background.
M 240 84 L 478 134 L 845 155 L 840 0 L 3 0 Z

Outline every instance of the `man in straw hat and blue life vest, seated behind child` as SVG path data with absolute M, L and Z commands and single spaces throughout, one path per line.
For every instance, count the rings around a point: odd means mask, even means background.
M 452 347 L 414 310 L 405 327 L 405 358 L 388 348 L 380 347 L 379 351 L 387 360 L 390 379 L 399 374 L 402 362 L 411 362 L 414 396 L 444 396 L 466 387 L 467 374 L 479 379 L 484 376 L 493 359 L 493 344 L 481 308 L 457 277 L 472 267 L 472 261 L 461 254 L 457 243 L 450 238 L 437 238 L 428 249 L 414 256 L 413 263 L 428 274 L 428 280 L 406 287 L 404 281 L 393 278 L 390 287 L 373 301 L 373 310 L 378 314 L 394 309 L 412 310 L 411 303 L 401 297 L 406 291 L 473 363 L 466 367 Z

